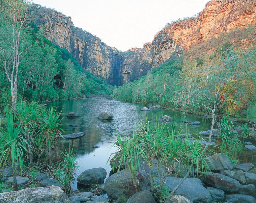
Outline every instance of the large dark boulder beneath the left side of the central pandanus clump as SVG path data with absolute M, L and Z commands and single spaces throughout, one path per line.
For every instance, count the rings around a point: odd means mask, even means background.
M 135 176 L 139 180 L 137 187 L 134 186 L 134 179 L 127 168 L 109 176 L 104 184 L 108 198 L 116 200 L 121 195 L 131 196 L 140 190 L 146 190 L 150 183 L 147 171 L 135 172 Z

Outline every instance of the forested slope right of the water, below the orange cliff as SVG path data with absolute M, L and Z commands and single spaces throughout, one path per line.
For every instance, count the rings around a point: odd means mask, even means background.
M 198 114 L 212 113 L 215 101 L 215 113 L 250 114 L 255 108 L 255 28 L 203 41 L 139 80 L 115 87 L 113 98 Z

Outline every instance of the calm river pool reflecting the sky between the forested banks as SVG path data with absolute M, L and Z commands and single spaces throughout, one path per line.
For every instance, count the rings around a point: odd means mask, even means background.
M 79 170 L 77 176 L 90 168 L 103 167 L 107 170 L 107 177 L 111 167 L 107 163 L 111 153 L 115 152 L 115 148 L 111 148 L 113 142 L 115 142 L 114 134 L 116 131 L 122 136 L 132 135 L 132 129 L 146 121 L 146 116 L 149 119 L 154 119 L 156 116 L 170 115 L 175 118 L 174 122 L 188 120 L 200 121 L 199 127 L 190 125 L 184 125 L 176 123 L 176 129 L 183 128 L 184 133 L 192 133 L 197 136 L 198 132 L 206 131 L 211 128 L 211 121 L 203 119 L 203 116 L 196 116 L 192 114 L 183 115 L 180 112 L 174 112 L 171 110 L 153 109 L 152 111 L 140 111 L 143 105 L 117 101 L 107 98 L 88 98 L 85 100 L 68 100 L 57 101 L 48 103 L 57 109 L 63 110 L 63 126 L 64 134 L 70 134 L 75 132 L 84 132 L 86 135 L 76 140 L 63 140 L 60 139 L 55 144 L 54 150 L 55 160 L 57 161 L 59 150 L 64 151 L 69 145 L 75 148 L 77 154 L 77 161 Z M 101 121 L 97 116 L 102 111 L 109 111 L 114 114 L 112 121 Z M 81 115 L 77 118 L 68 118 L 66 115 L 69 112 L 76 112 Z M 69 123 L 77 124 L 78 127 L 69 126 Z M 207 140 L 207 139 L 206 139 Z M 217 144 L 220 140 L 213 140 Z M 92 146 L 99 146 L 99 148 L 93 148 Z M 245 147 L 240 155 L 241 163 L 251 162 L 251 152 Z M 255 158 L 254 158 L 255 160 Z M 73 189 L 77 189 L 77 183 L 72 186 Z

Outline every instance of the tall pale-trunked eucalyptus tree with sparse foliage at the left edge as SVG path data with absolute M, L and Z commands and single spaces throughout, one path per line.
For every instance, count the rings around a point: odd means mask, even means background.
M 22 0 L 2 0 L 0 2 L 0 53 L 1 63 L 11 86 L 12 107 L 17 101 L 17 82 L 22 53 L 31 47 L 26 38 L 27 5 Z

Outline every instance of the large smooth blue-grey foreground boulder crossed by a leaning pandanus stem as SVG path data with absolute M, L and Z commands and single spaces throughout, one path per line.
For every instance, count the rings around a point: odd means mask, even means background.
M 154 181 L 157 181 L 159 184 L 160 178 L 156 177 Z M 164 182 L 164 187 L 172 191 L 181 181 L 182 178 L 167 177 Z M 203 187 L 203 182 L 198 178 L 186 178 L 174 194 L 182 195 L 192 202 L 212 202 L 210 192 Z

